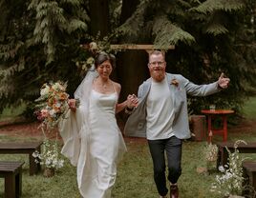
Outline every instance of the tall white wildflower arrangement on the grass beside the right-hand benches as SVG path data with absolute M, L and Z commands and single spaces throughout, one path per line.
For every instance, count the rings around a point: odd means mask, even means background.
M 239 155 L 238 145 L 245 143 L 238 140 L 234 144 L 234 152 L 226 148 L 228 152 L 228 163 L 219 167 L 221 175 L 216 175 L 216 180 L 212 184 L 210 190 L 222 194 L 224 196 L 241 195 L 243 191 L 243 167 L 242 162 L 245 160 Z

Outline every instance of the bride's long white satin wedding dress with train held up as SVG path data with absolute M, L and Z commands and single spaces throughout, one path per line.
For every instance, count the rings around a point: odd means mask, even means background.
M 117 161 L 126 151 L 115 117 L 117 92 L 91 89 L 88 99 L 88 107 L 81 101 L 59 123 L 64 141 L 61 152 L 77 166 L 77 184 L 84 198 L 110 198 Z

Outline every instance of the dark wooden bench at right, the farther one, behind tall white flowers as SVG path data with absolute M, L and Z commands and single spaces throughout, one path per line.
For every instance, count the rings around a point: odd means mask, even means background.
M 218 149 L 218 158 L 217 158 L 217 169 L 219 166 L 224 166 L 228 161 L 228 152 L 226 148 L 228 148 L 231 152 L 234 151 L 234 142 L 220 142 L 216 144 Z M 226 148 L 225 148 L 226 147 Z M 239 144 L 238 148 L 240 153 L 256 153 L 256 142 Z

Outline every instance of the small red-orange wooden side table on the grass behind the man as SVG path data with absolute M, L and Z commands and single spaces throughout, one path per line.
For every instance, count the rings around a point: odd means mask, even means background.
M 212 141 L 212 136 L 215 134 L 223 135 L 223 141 L 227 140 L 227 115 L 234 113 L 231 109 L 203 109 L 201 110 L 203 114 L 207 116 L 207 126 L 208 126 L 208 142 Z M 223 129 L 213 129 L 212 118 L 214 116 L 221 116 L 223 120 Z

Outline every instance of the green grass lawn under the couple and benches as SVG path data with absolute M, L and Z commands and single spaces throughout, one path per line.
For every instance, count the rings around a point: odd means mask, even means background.
M 245 116 L 256 120 L 256 98 L 246 103 Z M 255 116 L 254 116 L 255 115 Z M 253 117 L 254 116 L 254 117 Z M 229 132 L 229 140 L 243 139 L 247 142 L 256 141 L 256 129 L 241 132 Z M 0 142 L 30 141 L 35 137 L 13 137 L 0 135 Z M 216 137 L 221 141 L 221 137 Z M 146 142 L 127 139 L 128 152 L 117 168 L 117 181 L 113 188 L 113 198 L 158 198 L 153 180 L 153 168 Z M 182 148 L 182 174 L 179 180 L 181 198 L 218 198 L 209 188 L 218 172 L 199 174 L 197 168 L 206 167 L 203 150 L 206 142 L 184 141 Z M 243 154 L 256 160 L 255 154 Z M 23 172 L 23 198 L 80 198 L 76 185 L 75 168 L 65 161 L 52 178 L 45 178 L 42 172 L 29 175 L 29 157 L 23 154 L 1 154 L 0 160 L 25 161 Z M 4 179 L 0 178 L 0 197 L 4 196 Z M 94 197 L 93 197 L 94 198 Z

